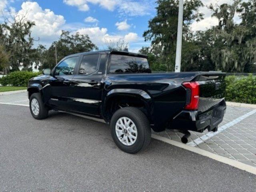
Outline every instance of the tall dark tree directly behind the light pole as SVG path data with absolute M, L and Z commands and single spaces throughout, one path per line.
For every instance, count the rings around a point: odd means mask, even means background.
M 158 0 L 156 16 L 149 20 L 148 30 L 143 34 L 145 41 L 152 40 L 151 50 L 158 50 L 158 61 L 166 66 L 167 70 L 174 70 L 178 0 Z M 191 32 L 189 26 L 193 20 L 202 19 L 198 8 L 202 6 L 201 0 L 186 0 L 184 2 L 183 36 L 189 41 Z M 182 52 L 184 54 L 184 52 Z M 158 56 L 159 55 L 159 56 Z

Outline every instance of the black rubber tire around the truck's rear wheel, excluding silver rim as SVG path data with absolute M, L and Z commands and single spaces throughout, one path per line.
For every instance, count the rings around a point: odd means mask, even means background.
M 130 118 L 134 122 L 137 129 L 137 133 L 138 133 L 137 139 L 134 142 L 134 144 L 130 146 L 123 144 L 118 139 L 118 136 L 116 135 L 116 122 L 121 117 Z M 110 130 L 111 130 L 112 138 L 116 143 L 116 145 L 118 146 L 118 148 L 120 148 L 121 150 L 127 153 L 134 154 L 141 150 L 144 150 L 148 146 L 151 140 L 151 128 L 150 128 L 148 118 L 141 110 L 134 107 L 126 107 L 126 108 L 117 110 L 111 118 Z

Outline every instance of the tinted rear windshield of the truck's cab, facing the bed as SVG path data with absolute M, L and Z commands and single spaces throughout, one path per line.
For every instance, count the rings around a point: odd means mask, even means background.
M 150 73 L 148 60 L 142 57 L 111 55 L 110 73 Z

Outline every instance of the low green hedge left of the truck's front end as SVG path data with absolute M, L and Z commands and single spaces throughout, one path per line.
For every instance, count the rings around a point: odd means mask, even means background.
M 0 78 L 0 84 L 2 86 L 28 86 L 28 80 L 39 74 L 41 74 L 41 72 L 14 71 Z

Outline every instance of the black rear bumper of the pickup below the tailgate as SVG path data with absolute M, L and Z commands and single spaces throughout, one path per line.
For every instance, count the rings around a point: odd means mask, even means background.
M 171 124 L 171 129 L 192 130 L 196 132 L 216 131 L 218 124 L 223 120 L 226 112 L 226 102 L 223 100 L 207 112 L 198 114 L 198 111 L 183 110 L 174 117 Z

